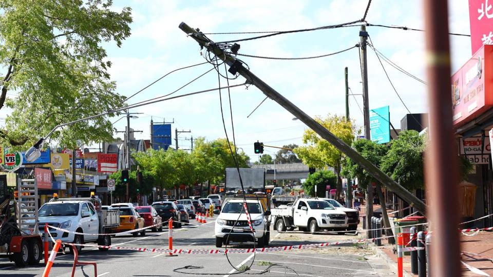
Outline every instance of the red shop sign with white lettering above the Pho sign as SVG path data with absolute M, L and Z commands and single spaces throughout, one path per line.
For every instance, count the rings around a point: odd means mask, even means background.
M 493 45 L 484 45 L 452 75 L 453 125 L 459 127 L 493 107 Z

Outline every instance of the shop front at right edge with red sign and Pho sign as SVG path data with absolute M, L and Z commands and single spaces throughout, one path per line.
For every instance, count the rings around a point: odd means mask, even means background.
M 458 153 L 473 168 L 461 180 L 459 207 L 462 221 L 493 213 L 493 165 L 489 131 L 493 128 L 493 45 L 480 48 L 452 75 L 453 125 Z M 471 223 L 475 227 L 493 226 L 493 218 Z

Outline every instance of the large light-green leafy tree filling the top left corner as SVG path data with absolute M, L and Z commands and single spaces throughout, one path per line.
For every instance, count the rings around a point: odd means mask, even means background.
M 31 146 L 54 126 L 121 107 L 103 42 L 130 35 L 130 8 L 111 0 L 0 0 L 0 109 L 12 110 L 1 143 Z M 7 97 L 7 93 L 18 93 Z M 109 116 L 112 116 L 110 114 Z M 67 126 L 51 139 L 74 147 L 110 140 L 107 116 Z

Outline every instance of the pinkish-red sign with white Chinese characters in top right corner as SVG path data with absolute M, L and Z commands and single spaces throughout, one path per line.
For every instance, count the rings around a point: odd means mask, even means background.
M 493 0 L 469 0 L 472 54 L 493 44 Z

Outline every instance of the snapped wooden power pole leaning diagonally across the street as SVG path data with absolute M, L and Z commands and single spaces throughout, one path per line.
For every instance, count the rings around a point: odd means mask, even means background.
M 236 74 L 238 72 L 241 76 L 247 79 L 247 83 L 256 86 L 260 89 L 264 94 L 266 94 L 269 98 L 277 102 L 295 117 L 297 117 L 301 122 L 305 123 L 308 127 L 310 127 L 313 131 L 315 131 L 318 135 L 324 138 L 326 141 L 334 145 L 337 149 L 345 153 L 350 159 L 354 162 L 361 165 L 365 170 L 368 171 L 376 180 L 380 181 L 384 186 L 395 192 L 399 195 L 404 201 L 412 204 L 414 208 L 416 208 L 421 213 L 426 213 L 426 205 L 418 199 L 418 197 L 414 196 L 412 193 L 407 191 L 404 187 L 399 185 L 397 182 L 393 181 L 389 176 L 387 176 L 384 172 L 378 169 L 375 165 L 366 160 L 361 154 L 359 154 L 356 150 L 351 148 L 351 146 L 347 145 L 345 142 L 340 140 L 337 136 L 327 130 L 324 126 L 317 123 L 313 118 L 311 118 L 304 111 L 300 110 L 296 105 L 287 100 L 286 97 L 282 96 L 279 92 L 271 88 L 268 84 L 260 80 L 255 74 L 250 72 L 250 70 L 246 69 L 240 61 L 238 61 L 235 57 L 226 54 L 222 49 L 220 49 L 211 39 L 208 39 L 204 34 L 195 30 L 185 23 L 181 23 L 179 28 L 185 32 L 187 35 L 191 36 L 195 39 L 201 46 L 201 48 L 206 48 L 208 51 L 214 53 L 218 58 L 223 60 L 227 65 L 230 66 L 229 71 L 231 73 Z

